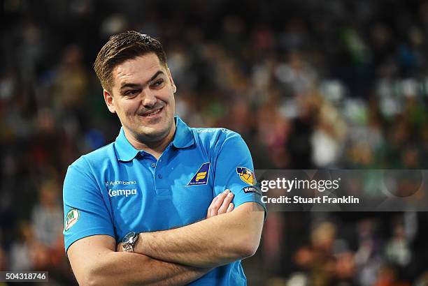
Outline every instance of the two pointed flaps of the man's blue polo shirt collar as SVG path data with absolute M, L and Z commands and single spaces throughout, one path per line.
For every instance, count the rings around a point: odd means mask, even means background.
M 192 146 L 194 144 L 192 130 L 190 130 L 189 126 L 180 117 L 175 116 L 174 119 L 176 121 L 176 134 L 174 135 L 172 145 L 177 149 Z M 115 149 L 117 158 L 124 162 L 131 161 L 140 152 L 129 143 L 127 137 L 124 135 L 123 127 L 120 128 L 120 133 L 115 140 Z

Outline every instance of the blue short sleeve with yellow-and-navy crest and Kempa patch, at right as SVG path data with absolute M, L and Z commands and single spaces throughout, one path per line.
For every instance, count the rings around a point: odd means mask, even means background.
M 214 170 L 214 195 L 229 189 L 234 193 L 235 207 L 245 202 L 262 202 L 262 195 L 256 185 L 254 167 L 247 144 L 241 135 L 228 131 L 224 140 L 216 146 L 216 160 Z

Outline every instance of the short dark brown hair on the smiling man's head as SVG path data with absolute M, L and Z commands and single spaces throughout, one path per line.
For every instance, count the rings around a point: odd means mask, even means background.
M 127 31 L 111 36 L 101 47 L 94 62 L 94 70 L 103 89 L 111 91 L 113 68 L 124 61 L 154 52 L 166 66 L 166 54 L 159 40 L 136 31 Z

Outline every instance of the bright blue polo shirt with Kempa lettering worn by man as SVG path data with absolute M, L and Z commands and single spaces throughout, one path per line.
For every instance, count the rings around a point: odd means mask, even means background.
M 213 198 L 229 188 L 235 209 L 261 202 L 250 151 L 224 128 L 189 128 L 178 116 L 176 134 L 159 160 L 135 149 L 121 128 L 115 142 L 81 156 L 64 180 L 65 249 L 95 234 L 122 241 L 128 232 L 155 232 L 206 218 Z M 246 285 L 241 261 L 217 267 L 190 285 Z

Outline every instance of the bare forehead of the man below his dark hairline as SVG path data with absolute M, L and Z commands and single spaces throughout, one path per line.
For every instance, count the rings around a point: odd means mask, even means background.
M 113 88 L 120 86 L 124 82 L 145 84 L 158 70 L 166 73 L 164 65 L 159 61 L 155 53 L 129 59 L 113 68 Z

